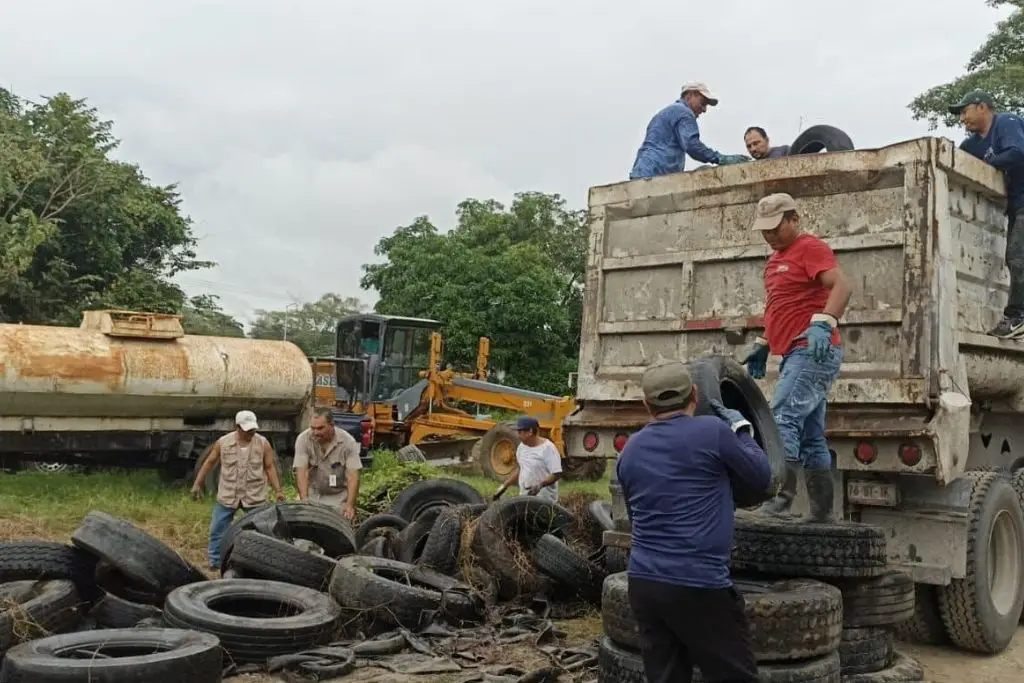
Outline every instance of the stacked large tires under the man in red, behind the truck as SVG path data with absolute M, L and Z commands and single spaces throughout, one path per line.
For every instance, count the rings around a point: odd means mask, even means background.
M 886 557 L 880 527 L 737 511 L 733 583 L 763 683 L 925 680 L 894 646 L 896 627 L 914 613 L 913 580 L 887 568 Z M 601 613 L 600 683 L 643 681 L 625 572 L 605 579 Z

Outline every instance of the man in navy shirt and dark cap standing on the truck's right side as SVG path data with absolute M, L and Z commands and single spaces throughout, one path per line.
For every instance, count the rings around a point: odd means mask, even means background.
M 996 114 L 992 95 L 971 90 L 949 108 L 971 136 L 961 143 L 968 152 L 1002 171 L 1007 184 L 1007 269 L 1010 297 L 1002 319 L 988 334 L 1000 339 L 1024 336 L 1024 121 Z

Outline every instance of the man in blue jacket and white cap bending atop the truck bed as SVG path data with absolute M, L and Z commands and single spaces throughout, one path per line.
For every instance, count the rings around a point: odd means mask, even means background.
M 750 161 L 744 155 L 723 155 L 700 141 L 697 118 L 718 97 L 703 83 L 687 83 L 679 99 L 654 115 L 637 151 L 630 180 L 678 173 L 686 166 L 686 155 L 705 164 L 740 164 Z

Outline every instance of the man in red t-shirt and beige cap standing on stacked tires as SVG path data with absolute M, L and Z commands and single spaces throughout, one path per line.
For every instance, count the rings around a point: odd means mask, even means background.
M 825 440 L 825 398 L 843 364 L 839 319 L 850 283 L 822 240 L 803 232 L 797 203 L 785 194 L 758 202 L 753 229 L 772 248 L 765 265 L 765 337 L 743 360 L 751 377 L 765 376 L 768 354 L 782 356 L 772 415 L 785 444 L 781 490 L 763 512 L 788 512 L 804 468 L 810 519 L 831 519 L 831 456 Z

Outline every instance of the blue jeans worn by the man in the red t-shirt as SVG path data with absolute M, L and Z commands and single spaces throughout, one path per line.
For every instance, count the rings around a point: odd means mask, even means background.
M 831 469 L 825 440 L 825 398 L 842 365 L 842 346 L 833 346 L 824 362 L 815 360 L 806 347 L 782 356 L 771 412 L 787 462 L 799 462 L 809 470 Z

